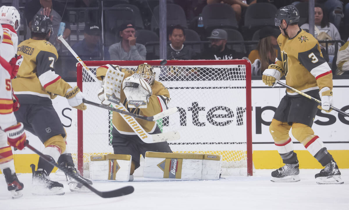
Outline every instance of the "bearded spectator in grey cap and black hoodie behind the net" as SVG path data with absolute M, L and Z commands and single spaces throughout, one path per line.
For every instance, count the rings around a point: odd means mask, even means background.
M 211 36 L 207 37 L 211 42 L 211 47 L 201 54 L 201 59 L 205 60 L 230 60 L 242 58 L 243 55 L 229 49 L 227 46 L 228 34 L 223 29 L 214 29 Z

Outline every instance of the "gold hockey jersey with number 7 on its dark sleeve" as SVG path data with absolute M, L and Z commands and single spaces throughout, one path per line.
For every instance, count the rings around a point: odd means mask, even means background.
M 46 40 L 27 39 L 18 45 L 23 56 L 18 74 L 12 80 L 14 93 L 20 103 L 52 104 L 50 94 L 65 96 L 71 86 L 54 72 L 58 58 L 56 48 Z

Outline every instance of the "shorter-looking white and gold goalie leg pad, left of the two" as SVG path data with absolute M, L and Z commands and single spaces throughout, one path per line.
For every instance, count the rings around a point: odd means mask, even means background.
M 131 155 L 92 155 L 90 178 L 92 180 L 129 181 Z

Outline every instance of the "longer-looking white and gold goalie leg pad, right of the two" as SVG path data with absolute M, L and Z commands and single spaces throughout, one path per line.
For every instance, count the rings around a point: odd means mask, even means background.
M 146 152 L 143 177 L 176 180 L 218 180 L 219 155 Z

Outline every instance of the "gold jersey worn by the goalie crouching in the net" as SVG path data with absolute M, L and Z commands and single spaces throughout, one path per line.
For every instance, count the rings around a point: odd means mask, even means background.
M 111 65 L 112 66 L 112 65 Z M 105 76 L 108 66 L 100 66 L 97 68 L 97 78 L 98 80 L 103 80 L 103 76 Z M 135 72 L 132 70 L 121 69 L 122 72 L 125 73 L 124 79 L 131 76 Z M 143 116 L 152 116 L 158 114 L 164 110 L 166 110 L 167 104 L 170 101 L 170 93 L 168 89 L 158 81 L 155 81 L 153 85 L 151 85 L 151 90 L 153 91 L 153 95 L 149 97 L 149 102 L 147 108 L 128 108 L 127 99 L 124 91 L 120 91 L 120 99 L 122 104 L 127 108 L 129 112 L 143 115 Z M 154 132 L 156 128 L 156 122 L 147 121 L 143 119 L 137 119 L 137 122 L 144 128 L 147 133 Z M 125 122 L 125 120 L 121 117 L 119 113 L 113 112 L 113 126 L 118 130 L 121 134 L 126 135 L 135 135 L 132 128 Z

